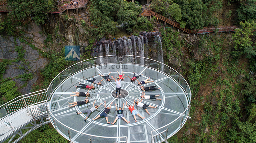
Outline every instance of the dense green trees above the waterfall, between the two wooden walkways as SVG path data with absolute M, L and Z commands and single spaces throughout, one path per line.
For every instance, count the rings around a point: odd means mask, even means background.
M 139 17 L 141 6 L 123 0 L 91 0 L 90 19 L 97 28 L 92 29 L 98 38 L 112 37 L 118 31 L 116 25 L 127 33 L 151 31 L 152 24 L 145 17 Z

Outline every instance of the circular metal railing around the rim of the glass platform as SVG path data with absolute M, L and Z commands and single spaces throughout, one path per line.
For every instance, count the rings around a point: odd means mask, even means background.
M 168 138 L 168 137 L 171 137 L 172 135 L 174 135 L 177 131 L 179 131 L 181 129 L 181 127 L 185 124 L 185 122 L 188 118 L 189 109 L 190 109 L 189 105 L 191 102 L 191 91 L 190 91 L 189 85 L 186 82 L 186 80 L 184 79 L 184 77 L 182 75 L 180 75 L 177 71 L 175 71 L 171 67 L 169 67 L 159 61 L 153 60 L 153 59 L 139 57 L 139 56 L 132 56 L 132 55 L 109 55 L 109 56 L 100 56 L 100 57 L 90 58 L 90 59 L 78 62 L 75 65 L 72 65 L 72 66 L 66 68 L 65 70 L 63 70 L 61 73 L 59 73 L 53 79 L 51 84 L 49 85 L 48 90 L 51 90 L 51 91 L 47 90 L 46 92 L 53 93 L 54 90 L 63 81 L 65 81 L 71 75 L 76 74 L 77 72 L 80 72 L 81 70 L 86 70 L 86 69 L 96 67 L 96 66 L 104 66 L 105 63 L 111 63 L 111 64 L 120 64 L 120 63 L 126 64 L 127 63 L 127 64 L 134 64 L 134 65 L 143 65 L 143 66 L 146 66 L 147 68 L 158 69 L 160 72 L 162 72 L 162 73 L 168 75 L 169 77 L 171 77 L 172 79 L 174 79 L 174 81 L 176 81 L 176 83 L 179 84 L 180 87 L 182 88 L 182 90 L 185 92 L 186 97 L 187 97 L 187 105 L 188 106 L 185 108 L 184 112 L 181 113 L 180 116 L 177 117 L 174 121 L 158 128 L 158 129 L 155 129 L 154 131 L 162 133 L 163 128 L 169 128 L 169 130 L 170 130 L 171 126 L 175 126 L 175 129 L 171 130 L 172 133 L 170 135 L 168 135 L 168 134 L 166 135 Z M 49 104 L 51 104 L 51 102 Z M 47 106 L 49 106 L 49 105 L 47 104 Z M 89 134 L 85 134 L 85 133 L 76 131 L 76 130 L 64 125 L 63 123 L 59 122 L 54 117 L 54 115 L 51 113 L 50 110 L 49 110 L 49 115 L 51 116 L 50 120 L 51 120 L 52 124 L 55 125 L 55 128 L 57 129 L 57 131 L 58 131 L 58 126 L 59 126 L 59 128 L 61 128 L 62 130 L 63 130 L 63 128 L 65 128 L 65 130 L 67 130 L 67 131 L 71 130 L 71 131 L 75 131 L 75 133 L 81 133 L 83 135 L 86 135 L 88 139 L 89 139 L 88 136 L 99 137 L 99 138 L 110 138 L 110 137 L 89 135 Z M 69 140 L 68 135 L 64 135 L 61 131 L 58 131 L 58 132 L 62 136 L 64 136 L 66 139 Z M 113 138 L 120 138 L 120 137 L 113 137 Z

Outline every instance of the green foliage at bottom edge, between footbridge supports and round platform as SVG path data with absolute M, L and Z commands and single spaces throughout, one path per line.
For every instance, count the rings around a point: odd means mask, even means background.
M 42 133 L 37 143 L 68 143 L 55 129 L 47 129 Z

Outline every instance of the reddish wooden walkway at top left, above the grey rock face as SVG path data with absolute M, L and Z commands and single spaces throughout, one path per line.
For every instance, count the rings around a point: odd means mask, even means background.
M 57 11 L 48 12 L 48 13 L 59 14 L 59 13 L 63 13 L 66 10 L 82 8 L 88 2 L 89 2 L 89 0 L 80 0 L 78 3 L 73 2 L 72 4 L 66 3 L 65 5 L 61 5 L 61 6 L 58 5 Z M 11 6 L 0 6 L 0 13 L 8 13 L 8 12 L 11 12 Z

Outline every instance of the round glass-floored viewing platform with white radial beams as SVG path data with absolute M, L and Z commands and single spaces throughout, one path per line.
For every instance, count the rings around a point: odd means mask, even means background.
M 103 63 L 103 64 L 102 64 Z M 116 97 L 116 83 L 106 81 L 101 75 L 110 77 L 118 77 L 118 72 L 124 71 L 125 77 L 121 81 L 121 95 Z M 142 103 L 157 106 L 156 108 L 148 107 L 150 115 L 141 107 L 134 105 L 134 109 L 145 117 L 140 118 L 136 115 L 135 122 L 131 112 L 124 105 L 123 115 L 130 121 L 127 124 L 123 119 L 118 119 L 117 122 L 107 124 L 104 117 L 97 120 L 96 118 L 104 111 L 104 101 L 106 106 L 111 103 L 111 110 L 108 113 L 109 122 L 113 122 L 117 112 L 115 104 L 118 107 L 123 107 L 123 103 L 133 105 L 134 100 L 141 99 L 141 86 L 138 81 L 131 82 L 130 77 L 133 77 L 133 72 L 136 75 L 141 75 L 137 79 L 144 81 L 154 81 L 143 84 L 144 87 L 156 85 L 157 90 L 145 91 L 145 95 L 159 95 L 158 99 L 143 99 Z M 70 96 L 73 92 L 87 92 L 88 89 L 76 88 L 79 83 L 91 85 L 85 79 L 92 79 L 92 76 L 97 81 L 101 81 L 101 85 L 96 85 L 95 89 L 89 90 L 89 103 L 81 106 L 68 107 L 69 103 L 83 101 L 84 96 Z M 115 78 L 116 79 L 116 78 Z M 90 139 L 93 142 L 155 142 L 162 139 L 170 138 L 185 124 L 190 109 L 191 93 L 185 79 L 172 68 L 158 61 L 137 56 L 112 55 L 88 59 L 73 65 L 62 71 L 55 77 L 47 92 L 52 93 L 50 102 L 48 103 L 49 117 L 56 130 L 68 140 L 72 142 L 87 142 Z M 100 105 L 99 108 L 93 111 L 87 121 L 85 114 L 76 114 L 93 107 Z M 168 128 L 168 131 L 166 131 Z

